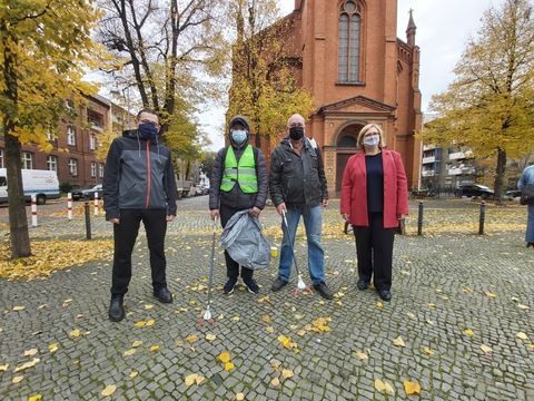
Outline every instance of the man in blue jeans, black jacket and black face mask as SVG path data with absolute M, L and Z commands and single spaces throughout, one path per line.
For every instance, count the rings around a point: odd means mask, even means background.
M 305 137 L 305 121 L 293 115 L 287 121 L 288 136 L 270 156 L 270 197 L 276 211 L 286 211 L 287 224 L 281 239 L 280 266 L 273 291 L 279 291 L 289 281 L 293 247 L 300 216 L 308 242 L 308 270 L 314 288 L 327 300 L 333 299 L 325 283 L 325 253 L 320 245 L 322 207 L 328 205 L 328 190 L 319 149 Z

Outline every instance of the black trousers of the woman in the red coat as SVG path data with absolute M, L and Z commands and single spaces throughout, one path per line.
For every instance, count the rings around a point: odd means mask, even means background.
M 390 290 L 395 228 L 384 228 L 382 213 L 369 213 L 369 226 L 354 226 L 354 235 L 359 278 L 370 282 L 373 275 L 376 290 Z

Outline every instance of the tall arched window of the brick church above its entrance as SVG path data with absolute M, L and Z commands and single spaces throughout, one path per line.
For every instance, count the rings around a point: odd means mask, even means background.
M 362 11 L 356 1 L 344 1 L 339 10 L 338 80 L 359 82 Z

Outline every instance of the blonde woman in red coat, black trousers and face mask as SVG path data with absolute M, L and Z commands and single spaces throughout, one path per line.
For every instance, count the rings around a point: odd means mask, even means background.
M 343 174 L 342 215 L 354 227 L 358 256 L 358 288 L 370 277 L 384 301 L 392 299 L 392 258 L 395 229 L 408 214 L 408 187 L 403 160 L 384 147 L 384 134 L 375 124 L 359 131 L 358 151 Z

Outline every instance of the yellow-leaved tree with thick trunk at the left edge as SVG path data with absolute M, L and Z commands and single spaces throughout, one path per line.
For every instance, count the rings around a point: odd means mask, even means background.
M 95 87 L 85 67 L 100 60 L 90 30 L 99 13 L 83 0 L 0 2 L 0 118 L 6 140 L 11 254 L 31 254 L 21 177 L 21 146 L 50 149 L 47 130 Z M 75 106 L 71 108 L 67 99 Z

